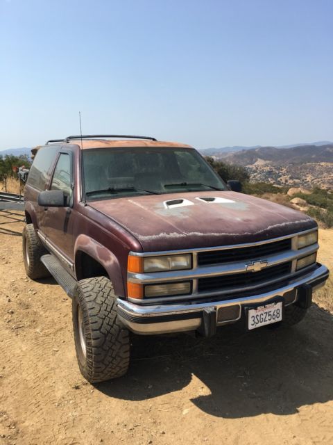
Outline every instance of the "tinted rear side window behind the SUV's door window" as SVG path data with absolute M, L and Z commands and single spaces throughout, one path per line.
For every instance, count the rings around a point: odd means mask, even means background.
M 56 154 L 59 151 L 59 146 L 51 145 L 49 147 L 42 147 L 37 151 L 33 165 L 28 175 L 28 184 L 37 188 L 38 190 L 44 190 L 46 183 L 49 182 L 49 171 Z

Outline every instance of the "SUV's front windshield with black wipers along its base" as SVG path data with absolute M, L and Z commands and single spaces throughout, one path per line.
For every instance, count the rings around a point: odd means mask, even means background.
M 83 176 L 87 201 L 228 190 L 196 150 L 185 148 L 85 149 Z

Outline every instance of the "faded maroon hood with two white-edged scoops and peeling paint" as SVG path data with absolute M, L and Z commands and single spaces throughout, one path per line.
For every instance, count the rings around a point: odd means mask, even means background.
M 316 227 L 309 216 L 232 191 L 89 202 L 133 234 L 144 252 L 253 243 Z

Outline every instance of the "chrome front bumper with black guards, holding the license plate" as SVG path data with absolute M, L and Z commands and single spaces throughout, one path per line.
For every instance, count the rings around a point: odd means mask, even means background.
M 207 337 L 214 334 L 216 326 L 238 321 L 243 313 L 242 308 L 246 305 L 261 305 L 278 296 L 283 298 L 284 305 L 291 305 L 301 298 L 305 289 L 309 294 L 309 291 L 316 291 L 323 286 L 328 275 L 328 269 L 318 264 L 315 270 L 289 280 L 278 289 L 229 300 L 225 296 L 223 300 L 219 300 L 219 293 L 216 293 L 214 298 L 205 301 L 142 306 L 118 298 L 118 316 L 123 325 L 136 334 L 198 330 Z

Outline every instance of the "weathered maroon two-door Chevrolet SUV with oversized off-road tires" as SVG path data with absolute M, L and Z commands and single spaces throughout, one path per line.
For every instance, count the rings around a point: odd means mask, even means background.
M 114 138 L 116 137 L 116 140 Z M 69 136 L 37 150 L 24 192 L 28 277 L 72 298 L 89 382 L 126 373 L 130 332 L 293 325 L 328 270 L 309 216 L 228 185 L 193 147 Z

